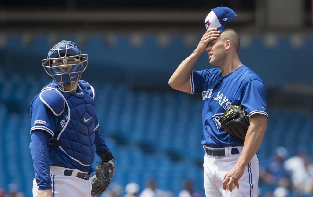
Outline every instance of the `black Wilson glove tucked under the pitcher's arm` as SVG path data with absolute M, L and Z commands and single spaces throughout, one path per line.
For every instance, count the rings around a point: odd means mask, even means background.
M 219 122 L 230 136 L 244 142 L 250 123 L 243 107 L 230 105 Z

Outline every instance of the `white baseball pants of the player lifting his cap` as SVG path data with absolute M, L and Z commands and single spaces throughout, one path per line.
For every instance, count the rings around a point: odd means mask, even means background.
M 209 148 L 209 147 L 208 147 Z M 203 179 L 205 196 L 209 197 L 257 197 L 259 183 L 259 159 L 255 154 L 249 164 L 244 169 L 243 176 L 239 179 L 239 189 L 237 187 L 230 192 L 223 189 L 223 179 L 225 174 L 231 170 L 239 154 L 231 155 L 231 148 L 237 148 L 242 152 L 243 147 L 226 147 L 227 156 L 213 157 L 208 154 L 204 156 Z M 218 148 L 209 148 L 218 149 Z M 224 148 L 222 148 L 224 149 Z M 230 154 L 229 154 L 230 153 Z

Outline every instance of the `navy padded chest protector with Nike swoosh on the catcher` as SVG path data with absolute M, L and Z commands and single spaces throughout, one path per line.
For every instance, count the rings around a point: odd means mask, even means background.
M 55 83 L 50 83 L 42 91 L 48 89 L 50 92 L 51 90 L 57 91 L 64 100 L 64 110 L 60 114 L 66 117 L 62 124 L 63 128 L 55 131 L 56 140 L 50 144 L 58 146 L 79 164 L 89 166 L 95 159 L 94 131 L 99 126 L 95 118 L 94 89 L 83 80 L 79 81 L 78 91 L 75 93 L 64 93 Z M 56 107 L 60 108 L 60 105 Z M 49 108 L 53 111 L 53 104 Z

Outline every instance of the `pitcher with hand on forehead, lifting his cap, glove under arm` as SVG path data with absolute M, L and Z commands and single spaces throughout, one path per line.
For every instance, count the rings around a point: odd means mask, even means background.
M 169 85 L 202 95 L 203 163 L 206 196 L 257 196 L 257 150 L 268 119 L 266 88 L 238 57 L 239 36 L 224 24 L 237 15 L 230 8 L 214 8 L 205 20 L 207 31 L 197 48 L 178 66 Z M 212 68 L 194 71 L 206 52 Z

